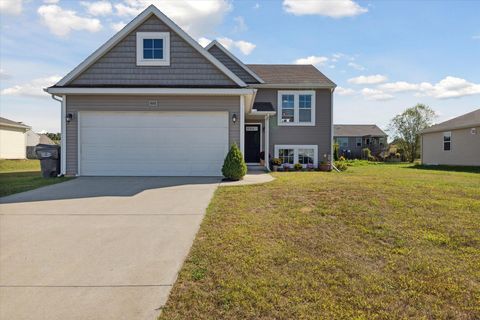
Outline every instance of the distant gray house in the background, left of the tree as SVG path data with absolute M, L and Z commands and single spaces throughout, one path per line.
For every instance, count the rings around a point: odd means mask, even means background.
M 361 158 L 362 149 L 368 148 L 377 156 L 387 149 L 388 135 L 374 124 L 335 124 L 333 127 L 340 155 Z

